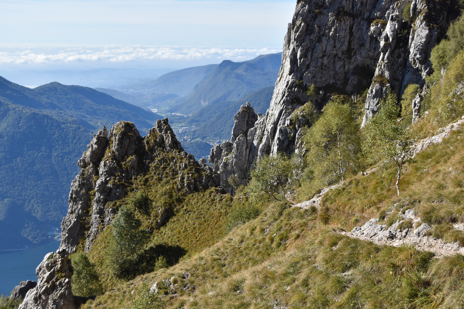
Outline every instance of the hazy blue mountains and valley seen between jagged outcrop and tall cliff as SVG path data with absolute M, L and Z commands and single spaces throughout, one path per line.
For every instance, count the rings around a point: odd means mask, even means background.
M 256 112 L 265 113 L 281 62 L 282 53 L 244 62 L 225 60 L 170 72 L 119 91 L 96 89 L 168 116 L 184 148 L 198 159 L 209 154 L 212 143 L 230 137 L 240 105 L 249 101 Z

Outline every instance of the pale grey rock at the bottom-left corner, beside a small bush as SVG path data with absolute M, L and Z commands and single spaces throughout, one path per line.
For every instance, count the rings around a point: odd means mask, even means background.
M 39 281 L 29 290 L 19 309 L 75 309 L 71 291 L 74 272 L 66 250 L 45 255 L 37 267 Z

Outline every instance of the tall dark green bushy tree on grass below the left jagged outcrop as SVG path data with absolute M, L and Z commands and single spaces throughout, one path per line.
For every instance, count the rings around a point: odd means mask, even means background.
M 122 206 L 111 223 L 112 235 L 106 250 L 108 268 L 117 277 L 131 278 L 137 274 L 138 262 L 149 239 L 149 231 L 127 206 Z

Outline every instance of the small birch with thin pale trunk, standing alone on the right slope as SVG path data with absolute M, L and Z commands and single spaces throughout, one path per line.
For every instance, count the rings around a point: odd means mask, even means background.
M 395 165 L 398 169 L 396 191 L 400 196 L 401 171 L 412 153 L 412 142 L 407 129 L 398 121 L 400 106 L 396 104 L 396 95 L 388 93 L 380 103 L 380 110 L 364 127 L 366 139 L 362 151 L 367 159 L 382 164 Z

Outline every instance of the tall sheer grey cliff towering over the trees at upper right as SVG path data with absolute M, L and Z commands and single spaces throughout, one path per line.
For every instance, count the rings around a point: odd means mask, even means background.
M 301 127 L 290 125 L 290 115 L 306 102 L 320 109 L 333 94 L 356 98 L 368 89 L 365 122 L 387 89 L 400 97 L 408 84 L 422 87 L 431 73 L 432 47 L 456 17 L 452 8 L 451 2 L 433 0 L 297 1 L 271 105 L 244 136 L 246 148 L 231 148 L 227 154 L 240 162 L 228 160 L 234 168 L 221 171 L 221 183 L 231 174 L 238 183 L 246 182 L 248 171 L 236 168 L 241 162 L 293 153 Z

